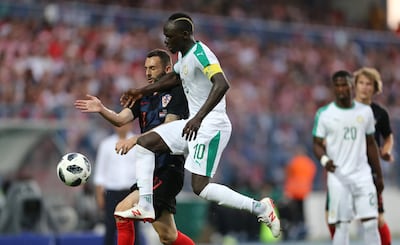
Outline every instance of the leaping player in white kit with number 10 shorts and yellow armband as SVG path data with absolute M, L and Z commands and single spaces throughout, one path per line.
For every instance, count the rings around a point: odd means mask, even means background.
M 192 172 L 192 189 L 200 197 L 218 204 L 247 210 L 266 223 L 275 237 L 280 235 L 280 221 L 270 198 L 256 201 L 230 188 L 210 183 L 222 152 L 228 144 L 232 127 L 225 110 L 225 94 L 229 89 L 220 63 L 214 53 L 193 37 L 193 21 L 183 13 L 170 16 L 164 25 L 165 45 L 178 53 L 173 73 L 159 82 L 131 89 L 121 97 L 124 106 L 132 106 L 143 95 L 152 94 L 182 83 L 188 100 L 190 117 L 164 124 L 141 136 L 132 148 L 137 157 L 139 204 L 121 217 L 151 220 L 152 174 L 154 154 L 161 152 L 187 154 L 185 168 Z

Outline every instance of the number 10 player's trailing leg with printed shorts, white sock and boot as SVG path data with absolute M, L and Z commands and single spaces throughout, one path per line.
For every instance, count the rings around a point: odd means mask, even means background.
M 277 237 L 280 235 L 280 221 L 271 199 L 264 198 L 257 201 L 225 185 L 210 183 L 230 134 L 230 127 L 206 124 L 198 131 L 196 140 L 189 141 L 185 168 L 192 173 L 193 192 L 219 205 L 247 210 L 257 215 L 259 221 L 265 222 L 271 228 L 272 234 Z

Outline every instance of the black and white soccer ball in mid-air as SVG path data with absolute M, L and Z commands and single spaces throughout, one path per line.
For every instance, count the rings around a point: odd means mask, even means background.
M 57 176 L 68 186 L 86 183 L 91 172 L 92 167 L 87 157 L 77 152 L 65 154 L 57 164 Z

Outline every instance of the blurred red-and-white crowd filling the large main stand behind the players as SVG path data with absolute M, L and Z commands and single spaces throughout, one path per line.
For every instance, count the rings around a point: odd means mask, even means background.
M 168 5 L 167 1 L 121 2 L 140 8 Z M 180 6 L 188 2 L 173 1 Z M 201 10 L 203 14 L 218 11 L 230 17 L 269 16 L 272 20 L 320 25 L 342 24 L 346 20 L 334 10 L 328 15 L 315 11 L 313 5 L 303 11 L 296 5 L 270 6 L 269 1 L 211 2 L 211 5 L 198 6 L 196 2 L 186 7 Z M 319 1 L 307 2 L 324 7 Z M 142 5 L 138 6 L 139 3 Z M 259 8 L 248 12 L 251 4 Z M 310 11 L 319 12 L 316 14 L 319 18 L 311 18 Z M 199 25 L 195 37 L 218 54 L 232 84 L 227 101 L 233 134 L 216 176 L 220 181 L 266 191 L 270 186 L 264 186 L 265 183 L 282 184 L 284 167 L 294 149 L 300 145 L 310 151 L 314 113 L 331 100 L 329 79 L 338 69 L 352 71 L 373 66 L 382 73 L 384 89 L 377 99 L 389 109 L 394 132 L 398 132 L 400 40 L 382 39 L 371 44 L 368 39 L 352 39 L 346 31 L 324 30 L 313 30 L 311 34 L 287 30 L 281 35 L 274 34 L 273 28 L 259 31 L 264 22 L 253 25 L 251 20 L 243 19 L 239 25 L 224 30 L 218 17 L 213 18 L 217 19 L 195 18 Z M 201 26 L 201 20 L 212 24 Z M 135 25 L 130 29 L 126 23 L 121 28 L 118 22 L 79 26 L 51 23 L 42 18 L 2 18 L 0 119 L 74 122 L 64 134 L 68 151 L 83 151 L 94 159 L 99 140 L 110 133 L 110 128 L 100 118 L 74 110 L 73 101 L 89 93 L 118 109 L 124 90 L 145 84 L 146 53 L 164 47 L 161 25 L 162 21 L 153 23 L 152 28 Z M 366 31 L 364 36 L 369 35 Z M 396 139 L 398 135 L 395 133 Z M 322 171 L 320 168 L 318 171 L 314 188 L 323 189 Z

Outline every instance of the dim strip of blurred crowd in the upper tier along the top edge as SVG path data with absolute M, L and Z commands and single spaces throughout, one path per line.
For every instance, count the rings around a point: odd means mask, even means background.
M 49 3 L 49 0 L 19 0 L 26 3 Z M 59 1 L 63 2 L 63 1 Z M 66 1 L 64 1 L 66 2 Z M 79 1 L 77 1 L 79 2 Z M 287 23 L 352 26 L 375 30 L 386 29 L 385 11 L 382 4 L 368 3 L 367 19 L 352 18 L 334 4 L 334 1 L 318 0 L 86 0 L 96 5 L 118 5 L 146 10 L 176 11 L 218 15 L 232 18 L 268 19 Z M 364 5 L 360 6 L 363 7 Z

